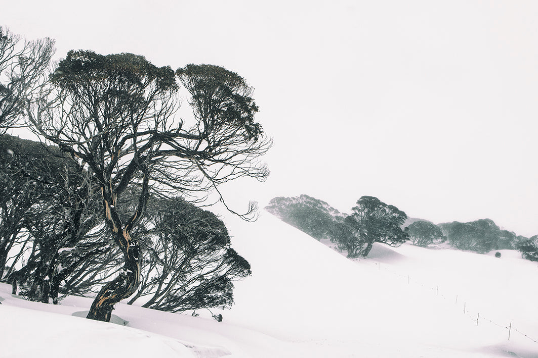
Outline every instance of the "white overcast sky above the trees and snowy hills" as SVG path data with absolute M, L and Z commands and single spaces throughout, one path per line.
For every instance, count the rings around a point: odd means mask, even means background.
M 223 188 L 377 196 L 438 222 L 538 234 L 536 1 L 6 1 L 0 25 L 69 49 L 210 63 L 256 91 L 271 177 Z

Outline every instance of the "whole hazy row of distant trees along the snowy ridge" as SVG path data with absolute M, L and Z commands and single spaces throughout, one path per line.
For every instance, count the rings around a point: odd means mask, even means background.
M 265 209 L 318 240 L 331 240 L 339 250 L 348 252 L 349 258 L 366 257 L 376 242 L 398 246 L 409 240 L 416 246 L 445 243 L 478 253 L 515 249 L 523 258 L 538 261 L 538 236 L 516 236 L 490 219 L 438 225 L 426 220 L 406 220 L 403 211 L 373 196 L 360 198 L 351 215 L 304 194 L 274 198 Z

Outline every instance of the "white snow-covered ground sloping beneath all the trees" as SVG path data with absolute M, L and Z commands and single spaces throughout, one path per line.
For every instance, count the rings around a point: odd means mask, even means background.
M 376 244 L 352 261 L 265 212 L 224 222 L 253 275 L 213 311 L 222 323 L 126 304 L 119 324 L 95 322 L 75 317 L 90 298 L 28 302 L 2 284 L 0 357 L 538 357 L 538 265 L 518 252 Z

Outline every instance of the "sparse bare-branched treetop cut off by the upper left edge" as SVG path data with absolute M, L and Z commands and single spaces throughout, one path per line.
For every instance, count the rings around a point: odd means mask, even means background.
M 27 41 L 0 27 L 0 134 L 24 125 L 26 106 L 43 95 L 54 52 L 51 39 Z

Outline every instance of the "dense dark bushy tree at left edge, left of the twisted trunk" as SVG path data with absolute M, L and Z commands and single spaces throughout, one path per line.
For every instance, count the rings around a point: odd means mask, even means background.
M 1 267 L 9 261 L 0 278 L 23 284 L 32 300 L 56 303 L 60 283 L 80 264 L 74 252 L 97 224 L 87 178 L 66 154 L 42 143 L 3 135 L 0 153 Z M 75 251 L 67 255 L 66 248 Z

